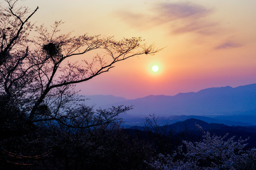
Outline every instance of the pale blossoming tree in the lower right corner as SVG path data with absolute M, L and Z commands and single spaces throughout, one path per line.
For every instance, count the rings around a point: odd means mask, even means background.
M 172 156 L 159 154 L 149 164 L 157 170 L 255 170 L 256 150 L 244 150 L 247 139 L 210 136 L 197 126 L 204 134 L 202 141 L 183 141 L 185 149 L 181 145 Z

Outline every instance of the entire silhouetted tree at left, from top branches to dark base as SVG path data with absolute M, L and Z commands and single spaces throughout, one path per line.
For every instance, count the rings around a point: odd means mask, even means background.
M 74 86 L 108 72 L 119 61 L 153 55 L 160 49 L 147 46 L 141 37 L 117 41 L 101 35 L 61 34 L 62 21 L 55 21 L 49 31 L 29 22 L 38 7 L 30 11 L 17 3 L 5 0 L 0 7 L 0 160 L 3 166 L 6 162 L 30 165 L 39 161 L 49 165 L 44 160 L 56 156 L 56 148 L 60 153 L 73 149 L 59 147 L 66 141 L 55 138 L 56 133 L 75 136 L 71 140 L 82 144 L 79 129 L 85 135 L 97 127 L 108 127 L 120 113 L 131 109 L 93 110 L 77 104 L 80 98 Z M 29 34 L 34 30 L 37 36 L 32 37 Z M 61 161 L 69 158 L 68 153 L 62 156 Z

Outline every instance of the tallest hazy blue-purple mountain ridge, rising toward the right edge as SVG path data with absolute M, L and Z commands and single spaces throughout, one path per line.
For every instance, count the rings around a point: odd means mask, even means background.
M 147 116 L 155 113 L 157 116 L 171 115 L 228 115 L 238 112 L 256 110 L 256 84 L 238 87 L 216 87 L 203 89 L 199 92 L 178 93 L 174 96 L 149 95 L 143 98 L 108 104 L 132 105 L 128 114 Z

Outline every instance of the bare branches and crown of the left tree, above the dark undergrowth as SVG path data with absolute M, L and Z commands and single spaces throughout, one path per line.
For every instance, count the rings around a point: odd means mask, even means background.
M 38 7 L 30 11 L 28 8 L 16 8 L 18 0 L 5 2 L 7 7 L 1 8 L 0 13 L 0 92 L 15 101 L 34 123 L 57 121 L 77 127 L 70 122 L 78 118 L 83 120 L 79 111 L 79 114 L 72 111 L 79 109 L 68 109 L 72 102 L 79 100 L 74 91 L 77 83 L 108 72 L 119 61 L 143 54 L 153 55 L 161 50 L 152 44 L 147 46 L 141 37 L 116 41 L 113 37 L 101 35 L 61 34 L 59 26 L 62 21 L 55 21 L 49 31 L 44 25 L 34 26 L 28 22 Z M 34 28 L 38 35 L 29 38 Z M 78 61 L 73 62 L 71 58 Z M 120 112 L 129 109 L 113 107 L 110 110 L 114 114 L 103 114 L 99 110 L 101 116 L 105 115 L 101 123 L 110 122 Z

